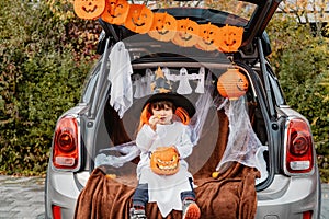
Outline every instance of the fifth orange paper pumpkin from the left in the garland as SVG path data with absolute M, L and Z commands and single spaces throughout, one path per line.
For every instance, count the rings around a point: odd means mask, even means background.
M 198 41 L 198 24 L 189 19 L 178 20 L 178 27 L 172 43 L 182 47 L 192 47 Z

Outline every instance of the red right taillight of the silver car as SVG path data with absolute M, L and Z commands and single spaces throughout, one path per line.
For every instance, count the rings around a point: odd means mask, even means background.
M 313 170 L 313 139 L 308 124 L 293 118 L 286 130 L 286 170 L 290 173 L 307 173 Z

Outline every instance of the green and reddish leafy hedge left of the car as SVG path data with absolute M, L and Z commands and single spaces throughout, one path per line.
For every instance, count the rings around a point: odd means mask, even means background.
M 95 57 L 90 23 L 50 9 L 0 3 L 0 172 L 8 174 L 45 172 L 56 120 L 78 103 Z

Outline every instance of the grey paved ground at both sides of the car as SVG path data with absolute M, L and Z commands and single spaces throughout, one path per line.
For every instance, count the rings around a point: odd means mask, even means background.
M 0 219 L 44 219 L 44 180 L 0 175 Z M 329 184 L 322 184 L 321 219 L 329 219 Z

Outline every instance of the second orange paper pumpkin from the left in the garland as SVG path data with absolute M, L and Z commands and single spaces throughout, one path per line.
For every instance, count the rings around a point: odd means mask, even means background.
M 126 21 L 128 11 L 129 4 L 126 0 L 106 0 L 102 19 L 110 24 L 122 25 Z

